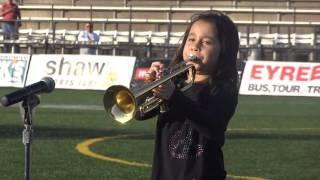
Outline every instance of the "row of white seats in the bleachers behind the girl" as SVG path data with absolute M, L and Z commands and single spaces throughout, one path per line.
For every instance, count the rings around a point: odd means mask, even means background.
M 20 29 L 19 39 L 14 42 L 3 41 L 4 43 L 20 43 L 21 47 L 27 48 L 28 53 L 39 52 L 42 49 L 44 52 L 45 48 L 53 46 L 60 49 L 60 53 L 65 53 L 65 49 L 68 48 L 70 53 L 76 53 L 77 48 L 85 42 L 78 42 L 77 35 L 79 30 L 66 30 L 58 29 L 53 32 L 49 29 Z M 116 49 L 119 46 L 133 50 L 136 46 L 148 47 L 176 47 L 184 32 L 155 32 L 155 31 L 96 31 L 100 35 L 100 40 L 97 43 L 91 43 L 88 45 L 99 46 L 99 49 L 113 49 L 112 54 L 116 54 Z M 54 38 L 54 39 L 53 39 Z M 320 46 L 320 35 L 315 33 L 310 34 L 280 34 L 280 33 L 242 33 L 239 32 L 240 47 L 242 49 L 254 48 L 257 45 L 264 49 L 271 49 L 272 53 L 275 53 L 280 49 L 302 49 L 306 52 L 312 53 Z M 41 52 L 41 51 L 40 51 Z M 103 54 L 102 51 L 98 51 L 98 54 Z M 132 54 L 132 52 L 131 52 Z M 148 52 L 151 54 L 151 52 Z M 277 60 L 276 56 L 273 55 L 272 60 Z

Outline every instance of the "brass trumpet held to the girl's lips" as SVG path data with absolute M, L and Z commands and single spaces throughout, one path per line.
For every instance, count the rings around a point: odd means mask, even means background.
M 120 123 L 126 123 L 134 118 L 137 111 L 140 111 L 141 114 L 145 114 L 163 103 L 163 99 L 161 98 L 155 96 L 145 97 L 148 94 L 151 94 L 152 89 L 157 88 L 169 80 L 173 80 L 177 88 L 180 88 L 181 91 L 185 91 L 189 89 L 194 82 L 194 65 L 186 65 L 184 62 L 181 62 L 164 72 L 165 73 L 161 74 L 159 79 L 146 84 L 142 88 L 128 89 L 121 85 L 110 86 L 106 90 L 103 98 L 107 115 Z M 185 82 L 186 78 L 181 78 L 184 74 L 187 75 L 187 73 L 191 73 L 189 75 L 192 77 L 189 82 Z M 138 98 L 145 99 L 142 99 L 143 102 L 139 103 L 138 101 L 141 99 L 137 100 Z

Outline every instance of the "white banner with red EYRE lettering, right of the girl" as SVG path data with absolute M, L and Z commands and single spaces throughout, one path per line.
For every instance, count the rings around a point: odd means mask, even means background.
M 320 63 L 248 61 L 240 94 L 320 96 Z

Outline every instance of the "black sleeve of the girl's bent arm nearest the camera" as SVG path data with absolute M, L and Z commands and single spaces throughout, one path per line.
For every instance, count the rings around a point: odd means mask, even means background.
M 221 89 L 214 94 L 200 96 L 200 102 L 197 103 L 176 90 L 169 100 L 170 108 L 189 119 L 200 134 L 215 138 L 225 132 L 235 112 L 237 93 Z

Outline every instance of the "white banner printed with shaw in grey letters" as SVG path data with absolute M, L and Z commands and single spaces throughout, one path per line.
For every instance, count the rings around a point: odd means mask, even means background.
M 129 87 L 134 64 L 135 57 L 126 56 L 32 55 L 27 85 L 49 76 L 61 89 Z

